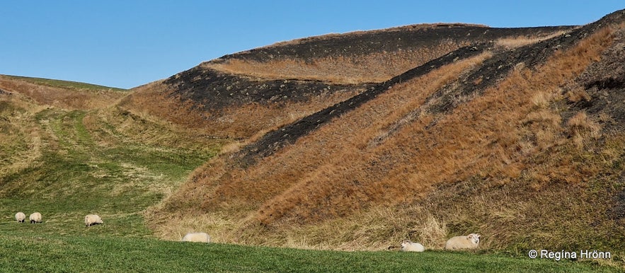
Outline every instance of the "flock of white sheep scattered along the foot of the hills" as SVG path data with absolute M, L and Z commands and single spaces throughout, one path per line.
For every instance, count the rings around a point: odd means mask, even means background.
M 15 219 L 18 223 L 23 223 L 26 219 L 26 214 L 18 212 L 15 214 Z M 41 223 L 41 214 L 39 212 L 33 212 L 28 216 L 30 223 Z M 93 226 L 99 223 L 104 223 L 102 218 L 96 214 L 88 214 L 85 216 L 85 226 Z M 195 232 L 187 233 L 183 238 L 183 242 L 195 242 L 195 243 L 210 243 L 210 236 L 207 233 Z M 449 238 L 445 243 L 446 250 L 465 250 L 478 248 L 480 243 L 480 235 L 478 233 L 471 233 L 468 236 L 456 236 Z M 425 247 L 420 243 L 413 243 L 410 240 L 403 240 L 401 242 L 401 251 L 423 252 Z

